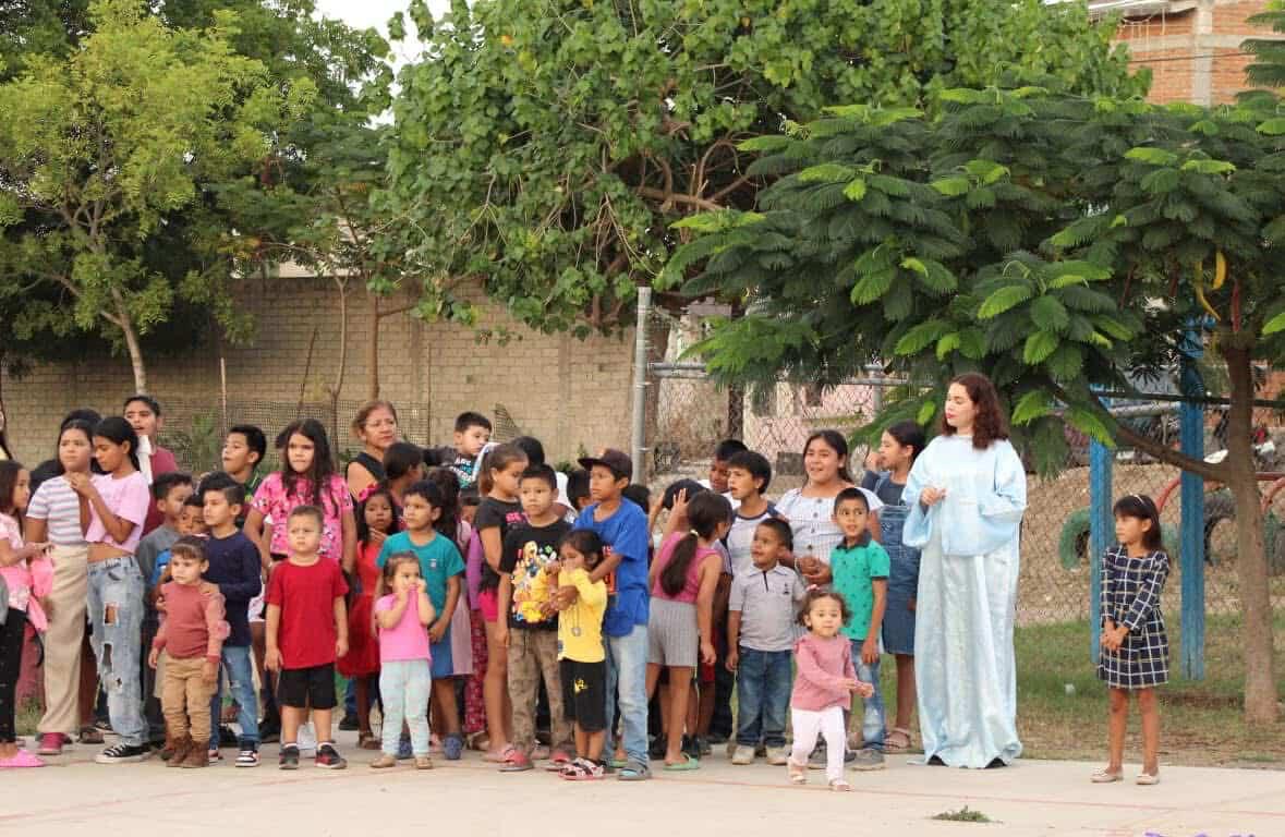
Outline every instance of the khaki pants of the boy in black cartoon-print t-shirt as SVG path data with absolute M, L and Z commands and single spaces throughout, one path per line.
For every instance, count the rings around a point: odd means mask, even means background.
M 501 615 L 500 618 L 504 618 Z M 574 751 L 571 724 L 563 711 L 562 672 L 558 670 L 558 631 L 509 629 L 509 698 L 513 701 L 513 746 L 526 753 L 536 746 L 536 701 L 540 680 L 549 693 L 553 746 Z

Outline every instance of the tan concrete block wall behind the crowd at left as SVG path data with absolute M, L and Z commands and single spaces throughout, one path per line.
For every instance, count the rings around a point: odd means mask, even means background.
M 248 418 L 258 420 L 271 437 L 280 428 L 257 415 L 269 411 L 288 420 L 301 397 L 314 405 L 306 410 L 312 414 L 316 405 L 328 401 L 341 355 L 339 296 L 333 282 L 307 278 L 254 279 L 240 296 L 257 328 L 248 345 L 224 347 L 227 420 L 245 420 L 238 409 L 252 411 Z M 409 314 L 380 323 L 380 395 L 397 406 L 410 441 L 450 444 L 459 413 L 478 410 L 493 418 L 499 404 L 522 432 L 545 442 L 554 460 L 574 458 L 581 449 L 628 446 L 632 330 L 586 341 L 540 334 L 487 303 L 479 288 L 466 296 L 482 305 L 479 327 L 513 332 L 508 345 L 495 339 L 478 343 L 473 328 L 423 323 Z M 384 307 L 409 301 L 391 300 Z M 369 301 L 353 292 L 348 297 L 339 433 L 332 440 L 335 447 L 357 445 L 346 428 L 355 405 L 366 397 L 369 338 Z M 221 419 L 215 346 L 195 346 L 181 356 L 152 355 L 146 361 L 148 388 L 166 409 L 168 429 L 180 429 L 202 414 Z M 132 391 L 128 359 L 105 350 L 93 361 L 39 365 L 21 379 L 5 374 L 0 396 L 14 454 L 32 463 L 51 455 L 58 422 L 67 410 L 91 406 L 114 414 Z M 335 423 L 326 419 L 326 424 Z

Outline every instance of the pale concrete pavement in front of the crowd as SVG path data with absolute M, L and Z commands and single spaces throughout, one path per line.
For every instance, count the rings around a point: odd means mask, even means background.
M 276 769 L 229 761 L 206 770 L 168 770 L 159 759 L 103 766 L 96 748 L 75 747 L 51 766 L 0 774 L 0 833 L 86 834 L 693 834 L 781 837 L 790 833 L 1085 834 L 1097 837 L 1268 837 L 1285 834 L 1285 771 L 1162 766 L 1163 782 L 1090 784 L 1096 764 L 1020 761 L 1004 770 L 952 770 L 889 759 L 878 773 L 848 773 L 852 793 L 825 788 L 810 773 L 804 788 L 784 768 L 761 760 L 730 765 L 722 753 L 700 770 L 636 784 L 608 778 L 571 783 L 537 769 L 500 774 L 478 753 L 437 759 L 432 771 L 371 770 L 375 753 L 341 735 L 347 770 Z M 225 750 L 225 757 L 235 751 Z M 659 766 L 659 765 L 657 765 Z M 1126 769 L 1132 779 L 1137 766 Z M 962 806 L 991 824 L 937 822 Z

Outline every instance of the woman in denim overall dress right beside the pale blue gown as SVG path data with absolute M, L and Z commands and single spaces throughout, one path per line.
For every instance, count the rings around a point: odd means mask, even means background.
M 883 621 L 884 651 L 897 660 L 897 720 L 884 741 L 888 752 L 910 748 L 910 717 L 915 710 L 915 595 L 919 588 L 919 550 L 902 545 L 901 530 L 910 508 L 901 490 L 915 456 L 924 449 L 924 429 L 901 422 L 884 431 L 879 442 L 880 473 L 866 474 L 866 487 L 883 500 L 879 510 L 879 541 L 892 559 L 888 577 L 888 607 Z

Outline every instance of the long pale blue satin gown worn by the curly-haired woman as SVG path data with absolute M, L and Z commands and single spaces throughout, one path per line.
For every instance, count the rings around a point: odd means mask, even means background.
M 946 498 L 925 509 L 926 487 Z M 957 768 L 1010 764 L 1016 726 L 1013 624 L 1027 476 L 1007 441 L 975 450 L 939 436 L 915 460 L 903 543 L 923 549 L 915 622 L 915 685 L 924 760 Z

